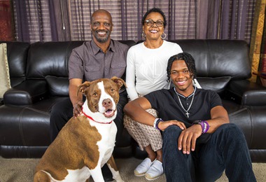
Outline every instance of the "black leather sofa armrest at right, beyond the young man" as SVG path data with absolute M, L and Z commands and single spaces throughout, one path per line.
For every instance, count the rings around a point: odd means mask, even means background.
M 242 106 L 265 106 L 266 88 L 248 80 L 231 80 L 226 97 Z

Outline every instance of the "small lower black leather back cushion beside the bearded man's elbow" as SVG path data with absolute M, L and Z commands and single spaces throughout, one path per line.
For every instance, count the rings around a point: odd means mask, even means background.
M 52 96 L 69 96 L 69 78 L 45 76 Z

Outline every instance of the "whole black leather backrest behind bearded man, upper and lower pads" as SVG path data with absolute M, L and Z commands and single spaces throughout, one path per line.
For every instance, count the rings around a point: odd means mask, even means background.
M 45 79 L 52 96 L 69 94 L 69 56 L 84 41 L 36 42 L 29 49 L 27 79 Z M 134 45 L 134 41 L 120 41 Z

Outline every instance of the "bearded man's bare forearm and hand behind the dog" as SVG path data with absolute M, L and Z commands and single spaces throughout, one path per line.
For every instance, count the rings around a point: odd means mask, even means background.
M 73 105 L 73 116 L 77 117 L 81 113 L 81 106 L 83 105 L 83 97 L 78 92 L 78 86 L 82 84 L 82 80 L 79 78 L 72 78 L 69 80 L 69 97 Z M 78 95 L 77 95 L 78 92 Z

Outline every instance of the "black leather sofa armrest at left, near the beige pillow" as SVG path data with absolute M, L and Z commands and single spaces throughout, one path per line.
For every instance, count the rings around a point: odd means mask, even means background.
M 45 80 L 26 80 L 3 94 L 3 103 L 17 106 L 31 105 L 48 96 Z

